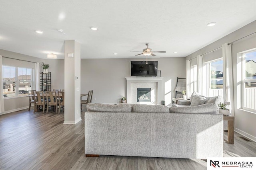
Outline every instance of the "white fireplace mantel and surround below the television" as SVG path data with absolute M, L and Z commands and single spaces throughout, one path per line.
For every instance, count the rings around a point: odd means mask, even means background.
M 126 77 L 127 81 L 127 88 L 126 88 L 126 95 L 127 95 L 127 103 L 132 103 L 131 99 L 131 83 L 133 82 L 156 82 L 157 83 L 157 103 L 161 104 L 161 101 L 164 100 L 162 98 L 162 79 L 163 77 Z

